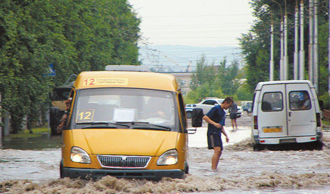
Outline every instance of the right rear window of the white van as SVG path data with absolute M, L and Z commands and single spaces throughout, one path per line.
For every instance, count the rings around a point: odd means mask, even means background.
M 289 104 L 291 110 L 311 109 L 311 98 L 308 91 L 290 91 Z

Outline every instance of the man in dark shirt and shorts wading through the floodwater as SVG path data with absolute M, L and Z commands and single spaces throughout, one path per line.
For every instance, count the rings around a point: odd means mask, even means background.
M 217 169 L 217 164 L 219 162 L 223 147 L 221 134 L 226 136 L 226 142 L 229 142 L 229 136 L 224 131 L 224 119 L 226 118 L 226 113 L 224 109 L 229 109 L 233 104 L 233 98 L 227 97 L 221 103 L 221 105 L 216 105 L 213 107 L 206 115 L 203 116 L 204 121 L 208 122 L 208 149 L 213 149 L 214 154 L 212 157 L 212 169 Z M 221 124 L 220 124 L 221 123 Z

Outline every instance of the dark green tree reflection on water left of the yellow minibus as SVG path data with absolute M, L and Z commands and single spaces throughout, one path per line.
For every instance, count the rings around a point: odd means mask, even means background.
M 16 150 L 44 150 L 47 148 L 60 148 L 61 138 L 62 137 L 60 135 L 49 136 L 48 133 L 30 138 L 3 137 L 0 148 Z

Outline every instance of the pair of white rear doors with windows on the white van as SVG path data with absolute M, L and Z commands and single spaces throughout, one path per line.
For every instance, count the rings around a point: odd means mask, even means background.
M 259 136 L 315 135 L 315 98 L 306 83 L 264 85 L 258 106 Z

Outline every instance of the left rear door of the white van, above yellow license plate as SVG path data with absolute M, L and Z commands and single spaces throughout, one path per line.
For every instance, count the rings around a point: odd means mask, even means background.
M 264 85 L 258 105 L 258 129 L 261 138 L 287 135 L 285 85 Z

